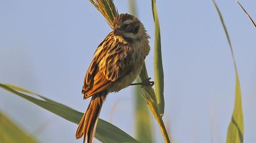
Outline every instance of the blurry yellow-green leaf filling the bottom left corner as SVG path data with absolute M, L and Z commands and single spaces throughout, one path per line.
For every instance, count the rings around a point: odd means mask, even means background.
M 38 141 L 0 112 L 0 142 L 34 143 Z

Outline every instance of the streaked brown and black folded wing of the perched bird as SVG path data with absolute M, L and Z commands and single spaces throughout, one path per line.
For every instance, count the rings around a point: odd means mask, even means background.
M 84 78 L 84 98 L 106 90 L 132 71 L 133 64 L 127 45 L 115 42 L 113 32 L 99 44 Z

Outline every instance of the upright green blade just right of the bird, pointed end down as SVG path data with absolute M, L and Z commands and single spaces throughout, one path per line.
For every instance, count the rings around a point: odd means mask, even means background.
M 161 50 L 160 25 L 157 16 L 157 5 L 152 0 L 152 12 L 155 21 L 155 50 L 154 50 L 154 70 L 155 70 L 155 96 L 157 98 L 160 116 L 165 112 L 165 99 L 163 97 L 163 63 Z

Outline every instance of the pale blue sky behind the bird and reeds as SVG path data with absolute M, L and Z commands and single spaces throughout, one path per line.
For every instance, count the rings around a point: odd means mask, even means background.
M 256 142 L 255 28 L 235 1 L 216 1 L 229 30 L 241 81 L 244 142 Z M 119 13 L 127 1 L 115 1 Z M 256 1 L 241 1 L 256 19 Z M 154 21 L 151 1 L 138 1 L 138 17 L 151 36 L 146 58 L 154 79 Z M 165 72 L 165 120 L 174 142 L 225 142 L 235 98 L 229 46 L 212 1 L 157 1 Z M 0 82 L 18 85 L 79 111 L 87 108 L 80 90 L 85 71 L 111 31 L 89 1 L 0 1 Z M 41 142 L 81 142 L 77 125 L 24 99 L 0 91 L 0 111 Z M 112 93 L 101 111 L 134 136 L 133 87 Z M 152 118 L 153 119 L 153 118 Z M 155 124 L 155 121 L 154 121 Z M 156 124 L 155 124 L 156 125 Z M 42 128 L 43 127 L 43 128 Z M 43 130 L 40 130 L 42 128 Z M 156 142 L 163 142 L 154 128 Z

